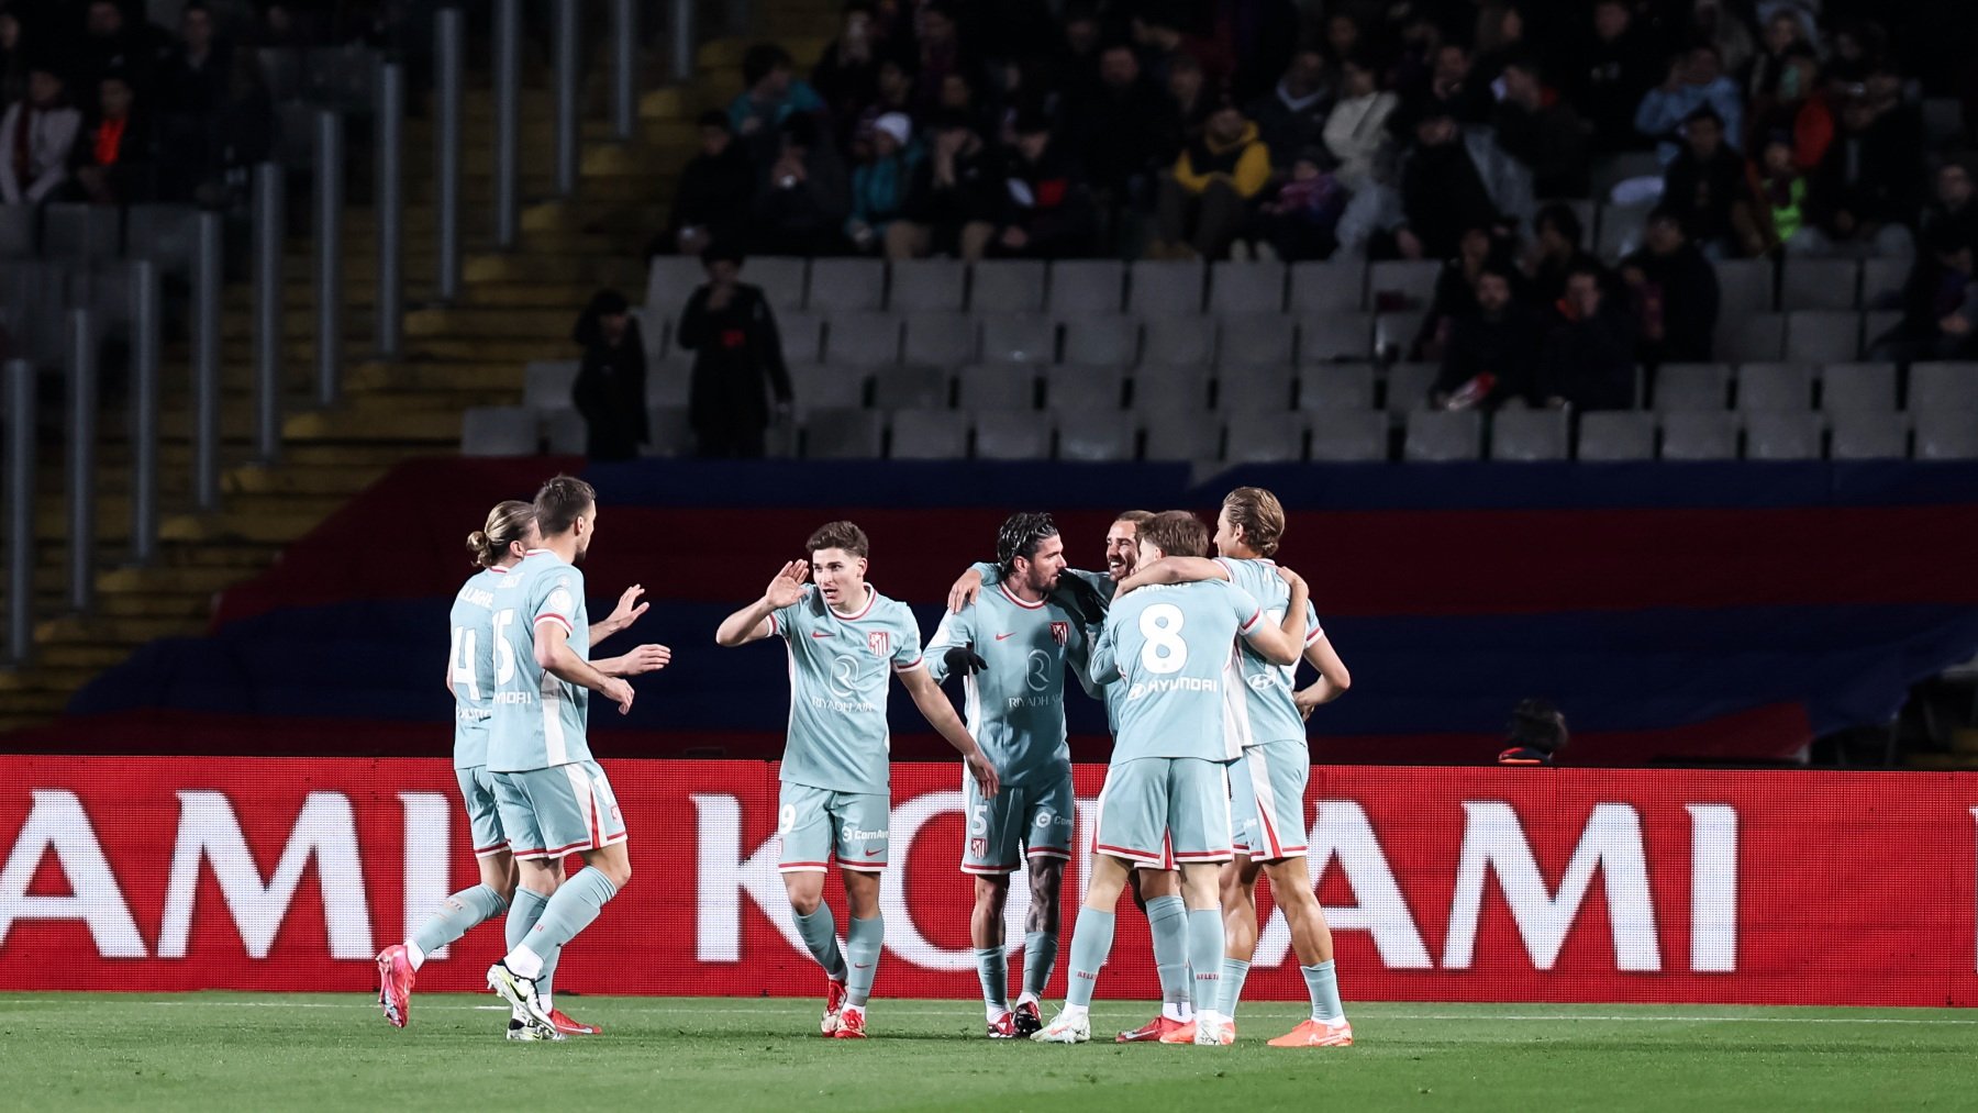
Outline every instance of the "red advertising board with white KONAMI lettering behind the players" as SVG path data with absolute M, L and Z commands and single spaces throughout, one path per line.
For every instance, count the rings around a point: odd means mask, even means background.
M 815 992 L 775 767 L 605 767 L 635 876 L 558 981 Z M 1088 807 L 1104 773 L 1078 769 Z M 0 757 L 0 988 L 364 990 L 475 880 L 445 761 Z M 973 998 L 959 767 L 900 765 L 892 793 L 878 992 Z M 1349 1000 L 1978 1004 L 1978 777 L 1331 767 L 1305 814 Z M 481 988 L 498 953 L 485 925 L 419 986 Z M 1270 917 L 1246 992 L 1302 996 L 1294 965 Z M 1131 909 L 1100 994 L 1155 996 Z

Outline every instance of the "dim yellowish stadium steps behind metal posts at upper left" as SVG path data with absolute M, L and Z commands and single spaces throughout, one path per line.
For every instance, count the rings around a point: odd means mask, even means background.
M 833 30 L 825 4 L 777 6 L 762 30 L 799 59 L 817 57 Z M 429 115 L 405 125 L 405 338 L 396 360 L 374 358 L 376 214 L 352 204 L 344 212 L 344 384 L 336 405 L 315 407 L 315 289 L 313 235 L 307 200 L 291 198 L 291 237 L 285 255 L 287 399 L 283 455 L 273 467 L 253 457 L 253 312 L 251 291 L 225 289 L 222 502 L 214 512 L 192 510 L 192 413 L 188 354 L 168 342 L 164 354 L 164 413 L 160 423 L 160 546 L 148 565 L 131 565 L 131 453 L 123 409 L 107 399 L 103 445 L 97 453 L 97 601 L 87 613 L 67 607 L 67 502 L 59 437 L 45 431 L 40 453 L 40 512 L 36 534 L 34 660 L 0 670 L 0 731 L 45 724 L 91 676 L 125 660 L 133 648 L 162 637 L 206 629 L 222 591 L 277 559 L 281 548 L 315 528 L 336 506 L 364 490 L 390 467 L 459 445 L 461 411 L 471 405 L 520 401 L 522 368 L 530 360 L 572 358 L 570 330 L 578 310 L 599 287 L 617 287 L 635 302 L 645 291 L 645 243 L 663 227 L 678 168 L 694 154 L 694 115 L 726 105 L 740 91 L 740 59 L 748 40 L 716 40 L 696 55 L 696 79 L 686 87 L 651 89 L 639 103 L 641 134 L 633 144 L 611 140 L 603 117 L 609 75 L 597 43 L 587 79 L 587 121 L 582 178 L 572 200 L 536 200 L 520 212 L 514 251 L 493 247 L 493 95 L 469 91 L 463 105 L 465 235 L 461 299 L 433 306 L 435 208 Z M 645 73 L 659 73 L 645 59 Z M 807 69 L 807 67 L 805 67 Z M 552 101 L 540 59 L 524 77 L 522 198 L 548 198 L 554 144 Z M 356 146 L 352 142 L 352 146 Z M 352 176 L 354 178 L 354 176 Z M 352 196 L 370 186 L 346 182 Z M 44 384 L 47 389 L 49 384 Z M 44 413 L 55 399 L 44 395 Z M 390 544 L 392 524 L 376 540 Z M 374 538 L 348 538 L 366 544 Z M 6 607 L 0 591 L 0 607 Z

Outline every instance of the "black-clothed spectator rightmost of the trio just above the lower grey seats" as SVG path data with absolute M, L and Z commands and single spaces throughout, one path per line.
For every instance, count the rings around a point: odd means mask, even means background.
M 1717 269 L 1685 233 L 1673 208 L 1648 214 L 1642 249 L 1620 271 L 1634 299 L 1640 360 L 1705 364 L 1717 336 Z

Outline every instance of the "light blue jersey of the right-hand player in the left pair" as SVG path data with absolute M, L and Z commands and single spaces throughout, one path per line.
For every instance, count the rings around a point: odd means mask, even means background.
M 548 550 L 532 550 L 494 585 L 494 718 L 489 769 L 524 773 L 589 761 L 584 737 L 591 694 L 536 664 L 536 627 L 554 623 L 572 652 L 589 660 L 591 619 L 584 573 Z

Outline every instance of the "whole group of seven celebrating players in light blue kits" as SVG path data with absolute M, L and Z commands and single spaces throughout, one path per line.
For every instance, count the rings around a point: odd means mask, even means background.
M 419 965 L 506 911 L 510 949 L 489 969 L 489 988 L 510 1006 L 508 1038 L 597 1032 L 552 996 L 562 947 L 631 880 L 623 816 L 585 741 L 585 708 L 595 692 L 627 712 L 625 678 L 665 668 L 671 650 L 643 644 L 589 660 L 591 644 L 645 613 L 633 585 L 605 621 L 587 621 L 576 563 L 595 530 L 595 492 L 558 476 L 534 504 L 496 506 L 467 542 L 481 571 L 453 605 L 447 686 L 481 884 L 447 898 L 411 939 L 378 955 L 378 1000 L 396 1026 L 405 1024 Z M 1282 534 L 1278 498 L 1246 486 L 1224 498 L 1213 538 L 1181 510 L 1122 514 L 1106 532 L 1106 573 L 1090 573 L 1066 567 L 1050 516 L 1015 514 L 997 534 L 997 561 L 955 581 L 949 613 L 922 650 L 912 611 L 866 583 L 864 532 L 831 522 L 809 538 L 809 559 L 785 563 L 762 599 L 722 621 L 722 646 L 777 637 L 789 652 L 777 834 L 797 935 L 827 977 L 825 1036 L 866 1036 L 886 933 L 878 896 L 892 805 L 892 672 L 967 769 L 961 872 L 975 878 L 971 941 L 991 1038 L 1092 1038 L 1092 992 L 1112 951 L 1114 909 L 1131 884 L 1163 1006 L 1118 1040 L 1230 1044 L 1258 937 L 1256 878 L 1268 874 L 1311 996 L 1309 1020 L 1270 1044 L 1353 1042 L 1304 844 L 1311 765 L 1304 720 L 1351 680 L 1305 581 L 1270 559 Z M 1300 690 L 1302 660 L 1317 680 Z M 1114 753 L 1072 929 L 1066 1002 L 1046 1024 L 1038 998 L 1058 959 L 1058 892 L 1076 814 L 1068 672 L 1106 704 Z M 940 690 L 955 676 L 967 722 Z M 584 858 L 572 878 L 562 874 L 568 854 Z M 843 945 L 823 899 L 833 862 L 851 911 Z M 1023 990 L 1011 1006 L 1003 909 L 1021 862 L 1031 917 Z

